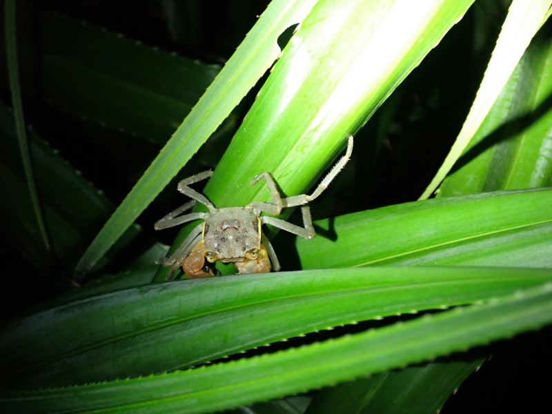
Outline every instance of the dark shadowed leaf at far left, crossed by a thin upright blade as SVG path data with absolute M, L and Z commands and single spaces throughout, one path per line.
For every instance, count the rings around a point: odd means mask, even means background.
M 23 181 L 21 163 L 18 161 L 15 125 L 12 112 L 0 103 L 0 221 L 10 241 L 44 272 L 59 272 L 61 268 L 70 273 L 79 255 L 86 248 L 88 239 L 114 209 L 112 203 L 97 188 L 86 181 L 34 131 L 30 131 L 30 151 L 37 172 L 37 186 L 41 194 L 44 213 L 48 220 L 52 246 L 59 264 L 41 246 L 41 236 L 34 225 L 30 197 Z M 63 197 L 60 197 L 60 194 Z M 108 257 L 116 255 L 121 248 L 139 234 L 132 226 L 121 237 Z M 152 240 L 141 239 L 153 244 Z

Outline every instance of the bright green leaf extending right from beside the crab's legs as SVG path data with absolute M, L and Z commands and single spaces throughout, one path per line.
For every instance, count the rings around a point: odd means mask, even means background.
M 399 264 L 552 266 L 552 189 L 387 206 L 316 222 L 303 268 Z M 324 237 L 326 234 L 326 237 Z

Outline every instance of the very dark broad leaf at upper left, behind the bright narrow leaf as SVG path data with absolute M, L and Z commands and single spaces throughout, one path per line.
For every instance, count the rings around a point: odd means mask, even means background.
M 220 70 L 77 19 L 33 10 L 28 2 L 20 5 L 23 92 L 159 145 Z

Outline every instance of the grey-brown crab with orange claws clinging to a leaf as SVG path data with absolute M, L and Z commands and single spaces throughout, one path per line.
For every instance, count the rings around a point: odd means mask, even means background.
M 175 270 L 180 266 L 190 278 L 215 276 L 214 264 L 217 260 L 223 263 L 233 263 L 240 274 L 268 273 L 271 268 L 275 271 L 280 270 L 276 253 L 264 235 L 262 225 L 270 224 L 305 239 L 315 237 L 311 210 L 307 204 L 316 199 L 328 187 L 347 164 L 352 151 L 353 137 L 349 137 L 345 154 L 311 195 L 302 194 L 282 198 L 273 177 L 268 172 L 260 173 L 253 178 L 250 186 L 263 179 L 272 199 L 270 201 L 253 201 L 245 207 L 216 208 L 205 195 L 190 188 L 191 184 L 211 177 L 213 175 L 211 170 L 183 179 L 178 184 L 178 190 L 192 200 L 159 219 L 155 223 L 155 230 L 178 226 L 197 219 L 204 221 L 193 228 L 172 255 L 161 257 L 157 263 L 170 268 L 168 279 L 172 279 Z M 206 206 L 209 210 L 208 213 L 197 212 L 182 215 L 190 210 L 196 202 Z M 283 208 L 295 206 L 301 206 L 304 227 L 270 216 L 278 215 Z M 269 215 L 262 215 L 262 213 Z M 272 266 L 270 262 L 272 262 Z

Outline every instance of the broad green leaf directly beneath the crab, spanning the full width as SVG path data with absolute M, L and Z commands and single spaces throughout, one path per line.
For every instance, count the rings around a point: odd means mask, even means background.
M 1 335 L 0 367 L 5 384 L 40 387 L 160 373 L 339 324 L 473 303 L 550 277 L 545 270 L 390 267 L 143 286 L 17 321 Z

